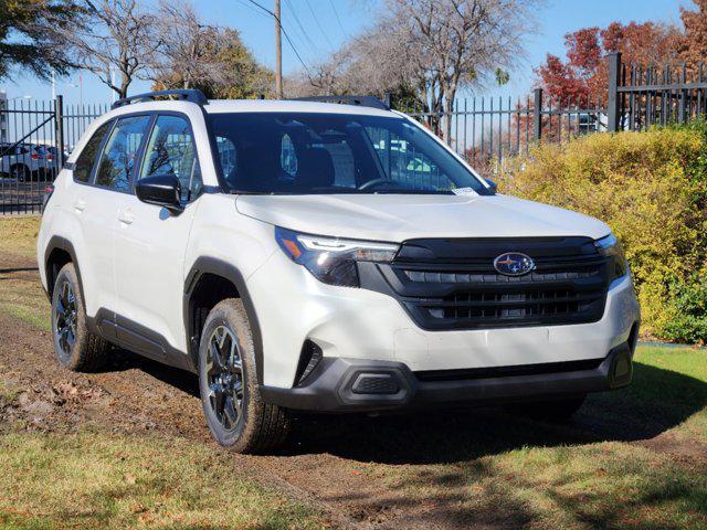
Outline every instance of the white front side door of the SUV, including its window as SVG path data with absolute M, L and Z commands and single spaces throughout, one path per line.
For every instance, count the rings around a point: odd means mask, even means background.
M 187 351 L 182 294 L 184 254 L 202 186 L 194 138 L 183 115 L 155 118 L 137 179 L 176 176 L 184 211 L 146 204 L 126 194 L 118 206 L 115 267 L 122 342 L 162 360 Z

